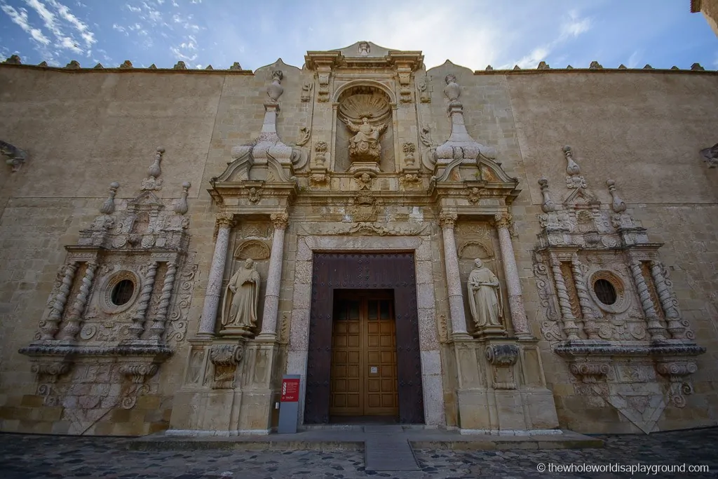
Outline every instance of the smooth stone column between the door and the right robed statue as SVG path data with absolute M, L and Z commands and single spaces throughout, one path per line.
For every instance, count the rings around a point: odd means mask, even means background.
M 444 265 L 447 271 L 447 289 L 449 290 L 449 315 L 454 339 L 470 339 L 466 330 L 466 313 L 464 310 L 464 297 L 461 291 L 459 277 L 459 255 L 456 251 L 454 238 L 454 225 L 458 215 L 442 211 L 439 213 L 439 224 L 444 235 Z

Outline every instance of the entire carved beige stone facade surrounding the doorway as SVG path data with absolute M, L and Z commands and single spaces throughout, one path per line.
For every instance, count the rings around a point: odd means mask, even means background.
M 413 254 L 426 427 L 717 423 L 716 73 L 305 60 L 0 65 L 1 430 L 267 434 L 283 374 L 303 427 L 320 252 Z

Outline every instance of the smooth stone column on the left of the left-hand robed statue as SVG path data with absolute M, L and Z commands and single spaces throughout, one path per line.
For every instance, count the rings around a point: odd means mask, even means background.
M 217 218 L 217 241 L 215 241 L 215 254 L 212 257 L 210 275 L 207 279 L 207 291 L 205 292 L 205 305 L 202 307 L 202 320 L 197 336 L 209 337 L 215 334 L 215 323 L 217 322 L 217 309 L 220 304 L 220 290 L 222 289 L 222 277 L 224 275 L 225 262 L 227 261 L 227 248 L 229 246 L 229 231 L 233 225 L 233 215 L 229 213 L 218 213 Z

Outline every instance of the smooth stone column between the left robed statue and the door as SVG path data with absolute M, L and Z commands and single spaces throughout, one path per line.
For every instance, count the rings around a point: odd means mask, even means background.
M 276 317 L 279 314 L 279 287 L 281 285 L 281 264 L 284 262 L 284 232 L 289 223 L 287 213 L 272 213 L 271 222 L 274 224 L 274 236 L 271 241 L 271 254 L 269 256 L 269 272 L 267 274 L 267 287 L 264 296 L 264 314 L 262 315 L 262 330 L 259 339 L 276 339 Z

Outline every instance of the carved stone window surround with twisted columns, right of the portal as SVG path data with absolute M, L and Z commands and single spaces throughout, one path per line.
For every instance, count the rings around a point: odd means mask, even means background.
M 643 432 L 663 409 L 686 406 L 698 370 L 689 321 L 681 316 L 661 243 L 630 214 L 613 180 L 611 203 L 597 200 L 564 147 L 566 187 L 559 204 L 546 178 L 534 253 L 538 294 L 546 312 L 544 338 L 564 358 L 577 396 L 610 404 Z

